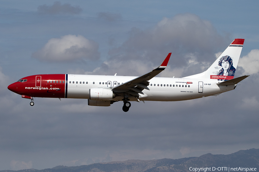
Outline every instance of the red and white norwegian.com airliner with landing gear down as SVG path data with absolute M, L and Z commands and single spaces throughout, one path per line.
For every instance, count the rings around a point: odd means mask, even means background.
M 130 101 L 182 101 L 219 95 L 233 90 L 248 77 L 234 79 L 244 39 L 235 39 L 204 72 L 183 78 L 155 77 L 165 70 L 169 53 L 162 64 L 140 77 L 108 75 L 42 74 L 19 79 L 7 88 L 22 98 L 33 97 L 88 99 L 90 106 L 110 106 L 123 101 L 127 112 Z M 144 102 L 145 103 L 145 102 Z

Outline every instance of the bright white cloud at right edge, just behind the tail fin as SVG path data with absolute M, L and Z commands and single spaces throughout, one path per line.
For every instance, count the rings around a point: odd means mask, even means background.
M 251 50 L 246 56 L 239 59 L 238 66 L 245 70 L 243 75 L 252 75 L 259 72 L 259 50 Z

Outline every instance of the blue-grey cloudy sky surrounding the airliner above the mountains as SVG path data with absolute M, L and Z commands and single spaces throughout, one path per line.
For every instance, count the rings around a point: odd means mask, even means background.
M 179 159 L 259 148 L 259 1 L 0 2 L 0 170 L 46 169 L 129 159 Z M 245 39 L 235 90 L 177 102 L 88 106 L 7 89 L 37 74 L 158 77 L 205 71 Z

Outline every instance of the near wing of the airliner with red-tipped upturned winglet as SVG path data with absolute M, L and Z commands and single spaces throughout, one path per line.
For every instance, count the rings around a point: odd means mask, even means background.
M 162 64 L 154 69 L 153 71 L 146 73 L 145 75 L 142 75 L 140 77 L 137 77 L 135 79 L 132 79 L 131 81 L 127 81 L 121 85 L 118 85 L 116 87 L 112 87 L 113 92 L 115 93 L 128 93 L 136 98 L 138 98 L 139 93 L 140 94 L 144 94 L 142 92 L 143 89 L 148 89 L 148 85 L 149 85 L 149 80 L 152 79 L 153 77 L 157 76 L 160 72 L 162 72 L 163 70 L 165 70 L 167 63 L 170 59 L 172 53 L 169 53 L 167 55 L 167 57 L 165 58 L 165 60 L 162 62 Z M 141 97 L 141 96 L 140 96 Z

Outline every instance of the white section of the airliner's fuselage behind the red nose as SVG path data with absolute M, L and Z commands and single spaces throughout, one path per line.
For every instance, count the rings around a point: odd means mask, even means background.
M 110 88 L 135 79 L 133 76 L 71 75 L 68 74 L 67 98 L 89 99 L 89 89 Z M 181 101 L 218 95 L 233 90 L 232 86 L 218 86 L 218 80 L 154 77 L 140 94 L 140 101 Z M 116 96 L 113 100 L 122 100 Z

